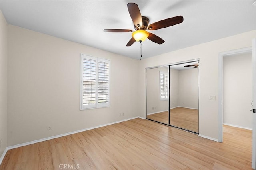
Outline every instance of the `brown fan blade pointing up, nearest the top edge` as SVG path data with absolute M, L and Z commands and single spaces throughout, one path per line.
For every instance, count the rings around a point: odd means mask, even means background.
M 135 26 L 140 27 L 142 26 L 142 16 L 140 14 L 140 9 L 137 4 L 135 3 L 128 3 L 127 4 L 128 11 L 132 18 L 132 22 Z

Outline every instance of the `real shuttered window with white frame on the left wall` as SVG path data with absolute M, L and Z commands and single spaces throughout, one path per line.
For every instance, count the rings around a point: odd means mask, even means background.
M 80 109 L 110 106 L 110 61 L 81 54 Z

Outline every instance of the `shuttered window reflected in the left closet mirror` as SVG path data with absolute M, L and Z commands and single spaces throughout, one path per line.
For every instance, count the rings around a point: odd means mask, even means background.
M 168 97 L 169 97 L 168 74 L 159 72 L 159 77 L 160 77 L 160 100 L 168 100 Z

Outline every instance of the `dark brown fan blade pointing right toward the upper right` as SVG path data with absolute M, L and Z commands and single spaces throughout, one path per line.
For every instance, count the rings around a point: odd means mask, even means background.
M 148 26 L 148 30 L 157 30 L 157 29 L 161 29 L 161 28 L 166 28 L 166 27 L 170 27 L 176 24 L 180 24 L 183 22 L 183 16 L 175 16 L 172 18 L 167 18 L 165 20 L 161 20 L 158 22 L 155 22 L 153 24 L 150 24 Z

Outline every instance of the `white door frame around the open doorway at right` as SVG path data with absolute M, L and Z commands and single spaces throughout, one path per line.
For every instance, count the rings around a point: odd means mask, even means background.
M 219 53 L 218 142 L 223 142 L 223 57 L 244 53 L 252 53 L 252 47 L 246 47 Z

